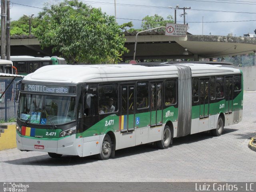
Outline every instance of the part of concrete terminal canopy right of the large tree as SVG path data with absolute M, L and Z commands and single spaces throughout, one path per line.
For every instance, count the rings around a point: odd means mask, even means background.
M 126 47 L 130 50 L 124 59 L 133 58 L 136 32 L 124 33 Z M 256 38 L 192 35 L 174 37 L 161 32 L 144 32 L 138 35 L 136 59 L 177 59 L 177 58 L 216 58 L 253 53 Z M 184 49 L 188 55 L 184 55 Z

